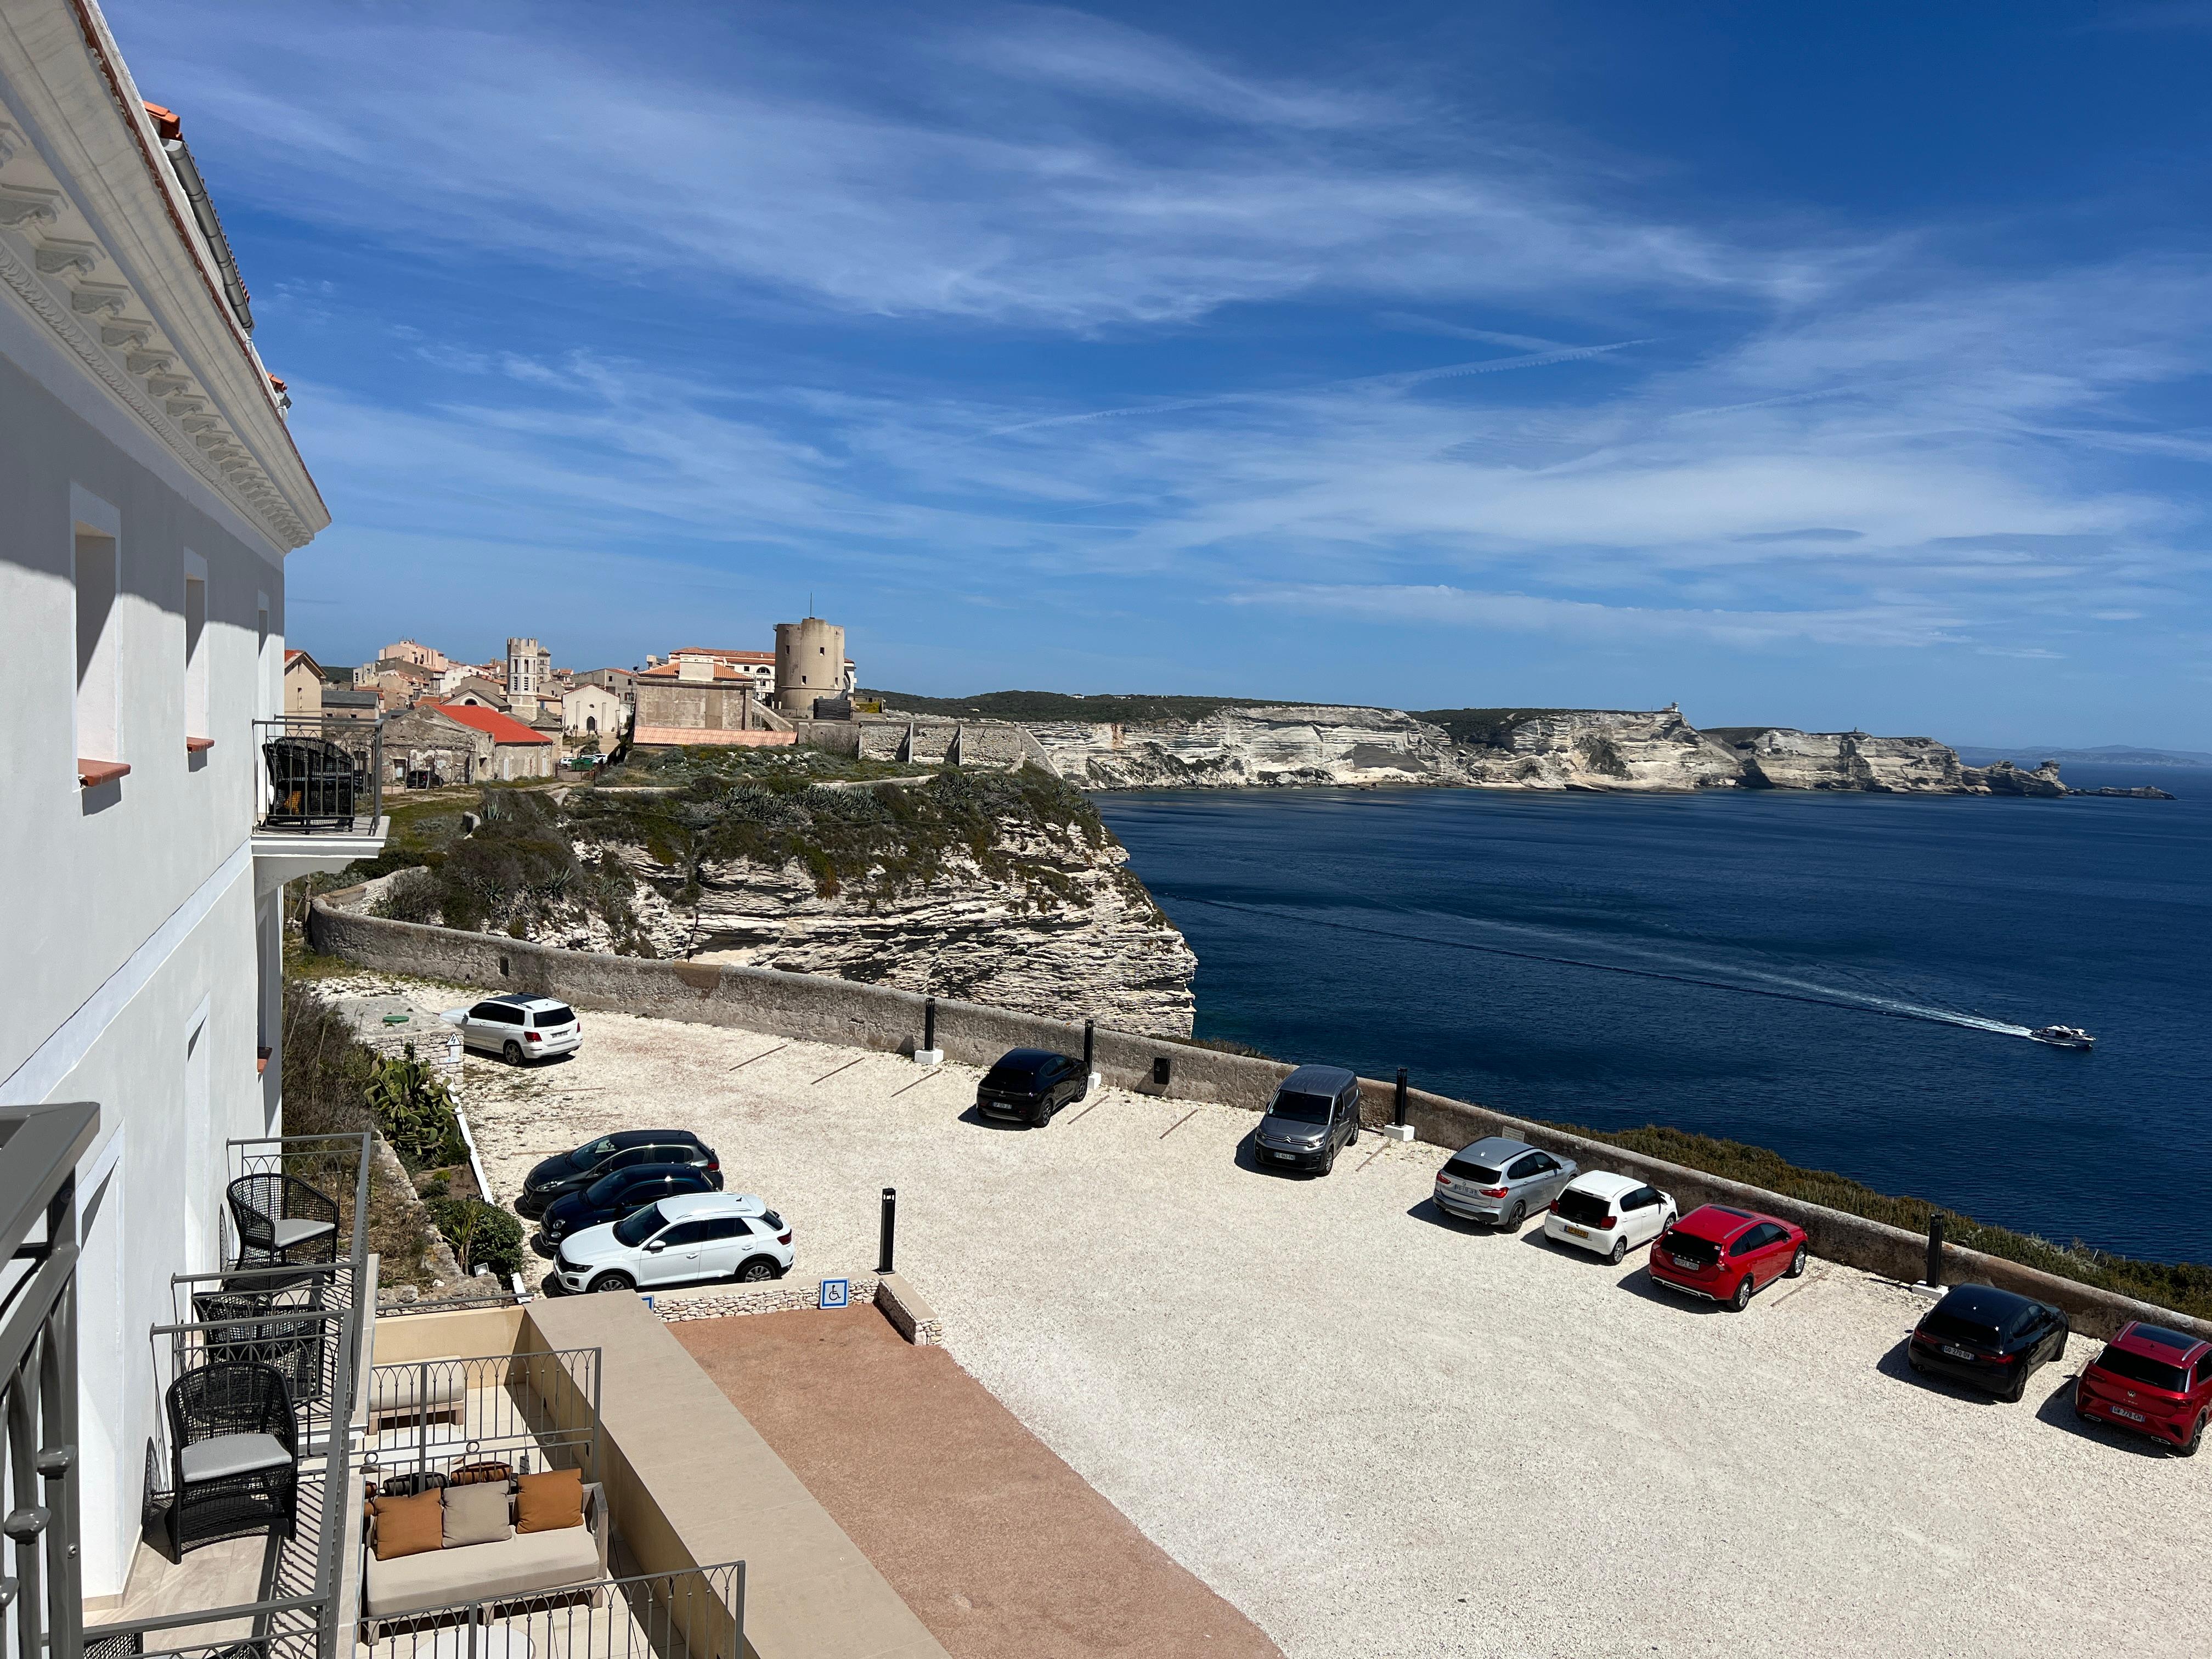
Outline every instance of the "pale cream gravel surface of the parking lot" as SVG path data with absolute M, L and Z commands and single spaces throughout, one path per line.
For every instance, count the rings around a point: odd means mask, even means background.
M 584 1029 L 542 1071 L 469 1060 L 502 1197 L 690 1126 L 816 1276 L 874 1265 L 896 1186 L 953 1356 L 1294 1659 L 2212 1652 L 2212 1462 L 2077 1427 L 2086 1343 L 2006 1407 L 1916 1380 L 1920 1303 L 1834 1263 L 1732 1316 L 1442 1223 L 1436 1148 L 1283 1179 L 1241 1110 L 1106 1091 L 998 1128 L 971 1068 Z

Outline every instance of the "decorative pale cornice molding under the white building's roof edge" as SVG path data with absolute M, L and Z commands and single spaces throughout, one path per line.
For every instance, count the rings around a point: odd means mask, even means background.
M 146 321 L 95 226 L 0 108 L 0 285 L 221 500 L 283 551 L 314 529 L 285 500 L 177 345 Z

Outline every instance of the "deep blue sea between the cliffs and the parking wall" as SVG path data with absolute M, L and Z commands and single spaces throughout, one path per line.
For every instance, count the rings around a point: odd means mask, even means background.
M 2212 768 L 2068 781 L 2183 799 L 1097 805 L 1199 953 L 1201 1037 L 1409 1066 L 1531 1117 L 1677 1124 L 2048 1239 L 2212 1261 Z

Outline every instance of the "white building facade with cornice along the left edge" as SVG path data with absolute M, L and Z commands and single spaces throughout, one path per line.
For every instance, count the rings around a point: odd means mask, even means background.
M 95 1604 L 139 1531 L 148 1327 L 170 1274 L 217 1267 L 226 1144 L 281 1126 L 279 885 L 383 838 L 257 830 L 283 562 L 330 515 L 173 142 L 97 7 L 0 0 L 0 1104 L 102 1115 L 77 1166 Z

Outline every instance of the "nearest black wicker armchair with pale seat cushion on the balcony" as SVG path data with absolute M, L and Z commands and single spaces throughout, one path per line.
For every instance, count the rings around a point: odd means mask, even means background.
M 201 1365 L 168 1385 L 168 1544 L 276 1533 L 299 1513 L 299 1429 L 274 1365 Z

